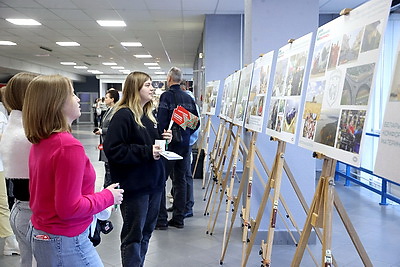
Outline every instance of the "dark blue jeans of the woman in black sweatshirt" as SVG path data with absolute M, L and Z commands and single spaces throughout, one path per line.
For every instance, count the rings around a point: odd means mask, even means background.
M 146 195 L 124 195 L 121 214 L 122 266 L 143 266 L 151 234 L 156 227 L 161 192 Z

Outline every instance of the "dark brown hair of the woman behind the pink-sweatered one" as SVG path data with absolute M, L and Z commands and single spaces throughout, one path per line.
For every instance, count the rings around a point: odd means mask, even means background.
M 7 82 L 3 94 L 3 101 L 7 109 L 22 111 L 28 84 L 37 76 L 37 74 L 29 72 L 20 72 Z

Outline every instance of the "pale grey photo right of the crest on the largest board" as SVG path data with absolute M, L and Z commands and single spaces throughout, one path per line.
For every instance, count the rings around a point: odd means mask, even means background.
M 374 69 L 375 63 L 347 69 L 341 105 L 368 105 Z

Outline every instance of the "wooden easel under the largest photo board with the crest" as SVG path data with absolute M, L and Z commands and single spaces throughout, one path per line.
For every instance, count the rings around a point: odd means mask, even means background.
M 332 210 L 335 205 L 336 210 L 342 219 L 346 230 L 356 247 L 356 250 L 361 257 L 364 266 L 372 267 L 371 260 L 368 257 L 361 241 L 352 225 L 337 193 L 335 192 L 334 175 L 336 169 L 336 160 L 325 157 L 319 153 L 314 153 L 317 158 L 324 159 L 322 166 L 321 177 L 318 181 L 317 188 L 311 203 L 310 211 L 307 215 L 306 222 L 303 227 L 303 231 L 300 236 L 296 253 L 292 260 L 292 267 L 300 266 L 304 249 L 307 245 L 310 237 L 311 229 L 318 230 L 322 229 L 322 257 L 321 266 L 333 266 L 333 257 L 331 251 L 332 243 Z

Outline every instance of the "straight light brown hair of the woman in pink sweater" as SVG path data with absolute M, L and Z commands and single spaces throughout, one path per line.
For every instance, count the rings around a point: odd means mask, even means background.
M 71 80 L 61 75 L 39 76 L 26 90 L 22 121 L 28 140 L 37 144 L 55 132 L 71 132 L 62 107 L 71 95 Z

